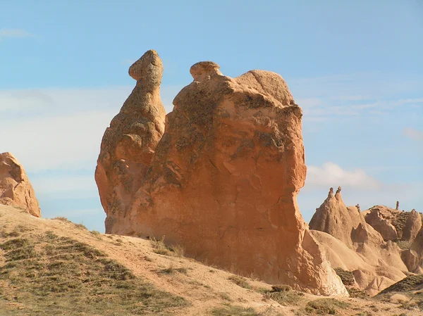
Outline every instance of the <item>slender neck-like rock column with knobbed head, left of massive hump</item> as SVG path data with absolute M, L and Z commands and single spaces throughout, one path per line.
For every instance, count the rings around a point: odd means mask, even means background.
M 137 84 L 104 133 L 95 180 L 107 215 L 107 233 L 121 231 L 128 225 L 126 213 L 164 133 L 162 74 L 156 51 L 147 51 L 130 66 L 129 75 Z

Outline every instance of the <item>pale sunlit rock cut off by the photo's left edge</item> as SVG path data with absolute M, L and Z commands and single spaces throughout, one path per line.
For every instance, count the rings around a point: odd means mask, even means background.
M 0 204 L 25 208 L 31 215 L 41 216 L 30 180 L 11 153 L 0 153 Z

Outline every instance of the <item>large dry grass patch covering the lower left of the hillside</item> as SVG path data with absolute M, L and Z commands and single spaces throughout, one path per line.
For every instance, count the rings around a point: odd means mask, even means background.
M 8 236 L 0 248 L 4 315 L 168 315 L 187 305 L 97 248 L 53 232 Z

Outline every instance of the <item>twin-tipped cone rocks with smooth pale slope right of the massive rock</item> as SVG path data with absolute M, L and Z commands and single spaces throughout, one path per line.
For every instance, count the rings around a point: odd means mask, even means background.
M 347 208 L 341 197 L 341 188 L 335 195 L 331 188 L 309 225 L 332 267 L 353 272 L 355 287 L 372 296 L 403 279 L 407 272 L 399 246 L 391 240 L 384 240 L 380 232 L 364 220 L 364 215 L 369 214 L 379 215 L 383 220 L 380 209 L 360 213 L 357 206 Z M 381 227 L 381 220 L 373 222 L 378 224 L 376 227 Z M 415 220 L 411 222 L 415 225 Z M 387 221 L 387 224 L 391 225 L 391 222 Z

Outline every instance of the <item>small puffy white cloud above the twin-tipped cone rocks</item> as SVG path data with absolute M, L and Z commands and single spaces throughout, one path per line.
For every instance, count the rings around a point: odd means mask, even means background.
M 361 169 L 344 170 L 336 163 L 324 163 L 321 167 L 309 165 L 305 187 L 353 187 L 357 189 L 379 189 L 381 183 L 366 175 Z

